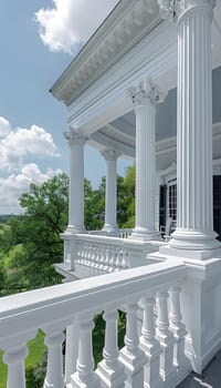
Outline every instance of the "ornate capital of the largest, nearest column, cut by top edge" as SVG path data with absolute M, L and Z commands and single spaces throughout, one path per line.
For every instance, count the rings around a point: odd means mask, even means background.
M 207 9 L 209 12 L 215 6 L 217 0 L 158 0 L 162 19 L 179 20 L 188 11 Z

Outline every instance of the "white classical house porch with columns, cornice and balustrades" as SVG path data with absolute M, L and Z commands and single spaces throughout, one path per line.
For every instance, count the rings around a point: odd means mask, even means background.
M 67 106 L 69 225 L 56 265 L 66 283 L 3 298 L 8 388 L 25 387 L 25 344 L 39 328 L 44 388 L 177 387 L 221 348 L 220 42 L 220 1 L 122 0 L 52 86 Z M 98 232 L 84 227 L 86 142 L 106 161 Z M 119 157 L 136 163 L 133 231 L 116 224 Z M 117 309 L 127 316 L 120 350 Z M 94 371 L 93 317 L 103 312 Z

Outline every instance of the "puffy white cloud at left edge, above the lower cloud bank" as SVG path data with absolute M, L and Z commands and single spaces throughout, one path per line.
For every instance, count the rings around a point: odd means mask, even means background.
M 2 131 L 0 133 L 2 135 L 3 131 L 6 133 L 4 139 L 0 140 L 1 169 L 17 170 L 22 165 L 23 157 L 28 155 L 38 157 L 57 156 L 57 149 L 53 142 L 53 137 L 43 127 L 31 125 L 30 129 L 18 127 L 13 131 L 6 119 L 0 121 L 1 127 Z

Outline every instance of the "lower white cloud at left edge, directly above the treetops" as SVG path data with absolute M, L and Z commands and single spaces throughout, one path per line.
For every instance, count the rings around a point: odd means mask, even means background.
M 19 197 L 29 191 L 30 183 L 41 185 L 61 172 L 61 170 L 48 169 L 42 173 L 35 163 L 30 163 L 24 165 L 19 174 L 0 177 L 0 214 L 21 213 Z

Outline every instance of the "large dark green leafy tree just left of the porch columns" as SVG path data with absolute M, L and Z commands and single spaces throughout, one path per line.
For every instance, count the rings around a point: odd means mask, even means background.
M 41 186 L 30 185 L 30 192 L 20 197 L 24 210 L 19 227 L 12 224 L 17 241 L 22 242 L 14 264 L 18 270 L 11 276 L 11 283 L 27 288 L 36 288 L 61 280 L 53 264 L 61 262 L 63 243 L 60 234 L 67 224 L 69 178 L 60 174 Z

